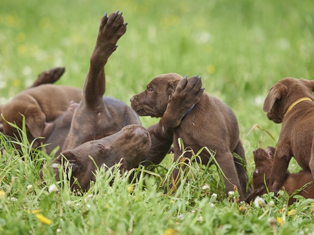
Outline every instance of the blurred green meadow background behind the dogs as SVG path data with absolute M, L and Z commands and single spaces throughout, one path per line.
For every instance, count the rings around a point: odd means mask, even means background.
M 261 130 L 247 135 L 252 126 L 280 131 L 262 111 L 270 87 L 313 79 L 313 0 L 2 0 L 0 103 L 56 66 L 66 67 L 58 84 L 82 87 L 100 19 L 116 10 L 129 24 L 105 67 L 105 94 L 130 104 L 158 74 L 200 74 L 234 110 L 250 164 L 254 148 L 276 144 Z

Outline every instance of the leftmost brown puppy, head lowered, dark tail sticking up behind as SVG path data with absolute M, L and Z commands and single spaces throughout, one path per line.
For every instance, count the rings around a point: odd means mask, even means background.
M 16 123 L 20 128 L 22 128 L 21 114 L 26 117 L 29 142 L 43 136 L 47 123 L 62 115 L 69 106 L 70 100 L 78 102 L 81 99 L 81 90 L 78 88 L 49 84 L 58 80 L 64 71 L 64 68 L 44 71 L 38 75 L 30 88 L 16 95 L 7 104 L 0 106 L 4 119 Z M 17 129 L 5 120 L 0 118 L 2 132 L 7 136 L 18 137 Z

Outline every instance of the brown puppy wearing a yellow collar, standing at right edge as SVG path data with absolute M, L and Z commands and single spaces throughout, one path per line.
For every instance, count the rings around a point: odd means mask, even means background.
M 292 156 L 314 177 L 313 91 L 314 81 L 288 77 L 277 82 L 265 98 L 263 111 L 267 118 L 282 122 L 269 180 L 271 191 L 282 187 Z

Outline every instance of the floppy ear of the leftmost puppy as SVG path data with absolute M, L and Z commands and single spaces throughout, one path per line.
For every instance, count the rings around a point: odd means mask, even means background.
M 46 121 L 46 116 L 41 111 L 37 111 L 34 113 L 30 111 L 29 114 L 26 115 L 25 124 L 28 127 L 30 134 L 34 138 L 38 138 L 43 135 L 44 128 L 45 128 L 45 121 Z

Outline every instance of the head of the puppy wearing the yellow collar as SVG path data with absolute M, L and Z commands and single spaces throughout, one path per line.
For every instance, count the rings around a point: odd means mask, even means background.
M 313 91 L 314 81 L 284 78 L 269 90 L 264 101 L 263 111 L 267 113 L 269 120 L 281 123 L 289 106 L 302 97 L 309 97 L 313 100 Z

